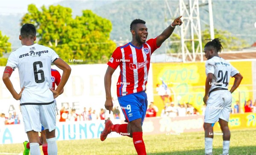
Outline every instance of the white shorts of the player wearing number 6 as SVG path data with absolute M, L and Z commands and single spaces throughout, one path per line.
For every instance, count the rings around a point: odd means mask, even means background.
M 25 132 L 41 132 L 42 125 L 49 132 L 56 128 L 55 103 L 47 105 L 23 105 L 20 106 Z

